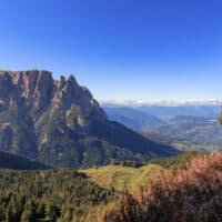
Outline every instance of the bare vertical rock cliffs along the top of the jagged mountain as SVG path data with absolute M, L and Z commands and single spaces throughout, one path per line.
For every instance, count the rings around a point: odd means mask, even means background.
M 7 98 L 14 90 L 26 100 L 26 105 L 31 109 L 34 119 L 47 109 L 68 111 L 75 104 L 83 115 L 97 118 L 97 121 L 107 120 L 105 113 L 90 91 L 80 87 L 73 75 L 53 80 L 49 71 L 0 71 L 0 97 Z

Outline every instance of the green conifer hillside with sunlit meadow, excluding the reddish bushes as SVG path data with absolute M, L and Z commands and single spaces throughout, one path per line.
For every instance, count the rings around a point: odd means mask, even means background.
M 94 222 L 105 205 L 149 185 L 164 169 L 182 168 L 196 153 L 152 163 L 120 162 L 75 171 L 0 170 L 0 221 Z

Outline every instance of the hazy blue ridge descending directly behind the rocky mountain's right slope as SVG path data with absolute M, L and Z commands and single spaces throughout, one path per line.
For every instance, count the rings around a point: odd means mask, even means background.
M 104 107 L 104 111 L 108 114 L 108 118 L 112 121 L 120 122 L 132 130 L 143 131 L 149 129 L 152 125 L 163 123 L 159 118 L 147 114 L 140 110 L 120 107 L 120 108 L 108 108 Z

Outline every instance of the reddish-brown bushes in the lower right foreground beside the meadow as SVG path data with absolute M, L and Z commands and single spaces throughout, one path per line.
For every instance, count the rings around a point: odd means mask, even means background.
M 148 189 L 125 194 L 113 205 L 102 221 L 222 221 L 222 154 L 192 160 L 176 175 L 165 171 Z

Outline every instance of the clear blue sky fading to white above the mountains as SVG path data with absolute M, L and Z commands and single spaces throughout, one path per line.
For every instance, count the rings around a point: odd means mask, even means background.
M 222 98 L 221 0 L 1 0 L 0 69 L 73 73 L 99 100 Z

